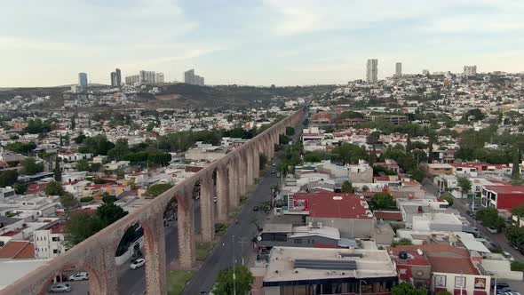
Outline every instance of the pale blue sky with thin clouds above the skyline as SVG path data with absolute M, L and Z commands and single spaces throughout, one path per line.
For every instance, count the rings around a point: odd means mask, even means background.
M 110 84 L 163 72 L 206 84 L 345 84 L 422 69 L 524 71 L 521 0 L 2 1 L 0 87 Z

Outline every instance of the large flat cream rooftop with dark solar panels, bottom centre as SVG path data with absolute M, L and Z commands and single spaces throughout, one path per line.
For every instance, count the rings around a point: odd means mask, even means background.
M 274 247 L 264 284 L 384 277 L 397 277 L 385 250 Z

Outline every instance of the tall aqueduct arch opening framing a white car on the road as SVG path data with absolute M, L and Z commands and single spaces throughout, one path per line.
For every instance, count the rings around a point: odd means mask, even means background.
M 143 294 L 146 291 L 144 227 L 137 222 L 123 233 L 115 251 L 118 289 L 121 294 Z

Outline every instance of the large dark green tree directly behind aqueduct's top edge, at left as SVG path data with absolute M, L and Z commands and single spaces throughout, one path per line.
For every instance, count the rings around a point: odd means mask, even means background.
M 64 224 L 65 242 L 68 248 L 83 242 L 104 228 L 98 215 L 89 211 L 75 211 L 69 214 Z

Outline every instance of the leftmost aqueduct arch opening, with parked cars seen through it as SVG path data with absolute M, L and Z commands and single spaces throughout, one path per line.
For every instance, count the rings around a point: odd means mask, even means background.
M 88 294 L 99 291 L 99 275 L 88 266 L 68 265 L 54 272 L 44 282 L 38 294 L 54 294 L 71 292 L 73 294 Z

